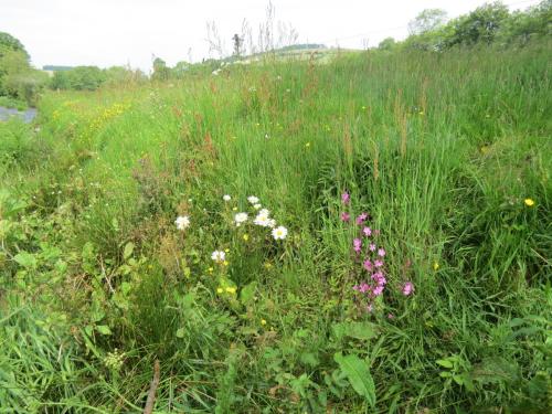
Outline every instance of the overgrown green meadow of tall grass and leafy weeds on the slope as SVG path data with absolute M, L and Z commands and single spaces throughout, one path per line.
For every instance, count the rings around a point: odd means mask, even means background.
M 0 413 L 141 412 L 156 360 L 157 413 L 548 412 L 551 51 L 45 93 L 0 124 Z

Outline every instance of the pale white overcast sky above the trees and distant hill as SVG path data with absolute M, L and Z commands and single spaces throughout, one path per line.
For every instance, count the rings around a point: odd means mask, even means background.
M 538 0 L 505 0 L 526 9 Z M 298 43 L 362 49 L 388 36 L 404 39 L 408 21 L 438 8 L 455 18 L 485 0 L 273 0 L 274 22 L 298 33 Z M 214 22 L 225 52 L 244 19 L 256 38 L 268 0 L 0 0 L 0 32 L 18 38 L 32 64 L 129 65 L 150 72 L 155 57 L 179 61 L 219 57 L 210 51 Z M 213 36 L 211 36 L 213 39 Z

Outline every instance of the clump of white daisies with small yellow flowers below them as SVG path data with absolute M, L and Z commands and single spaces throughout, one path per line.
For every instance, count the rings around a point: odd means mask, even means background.
M 243 266 L 235 272 L 235 277 L 230 272 L 234 262 L 243 262 L 241 255 L 261 256 L 264 267 L 269 269 L 273 264 L 270 257 L 283 248 L 283 242 L 288 235 L 285 226 L 278 225 L 268 209 L 264 208 L 255 195 L 247 197 L 247 208 L 240 210 L 234 204 L 231 195 L 223 195 L 224 208 L 222 211 L 223 225 L 227 227 L 230 240 L 216 241 L 214 251 L 202 252 L 200 256 L 209 263 L 206 273 L 216 280 L 213 285 L 216 295 L 230 301 L 236 299 L 238 290 L 240 272 L 250 272 Z M 190 215 L 180 215 L 174 221 L 178 231 L 185 232 L 191 226 Z

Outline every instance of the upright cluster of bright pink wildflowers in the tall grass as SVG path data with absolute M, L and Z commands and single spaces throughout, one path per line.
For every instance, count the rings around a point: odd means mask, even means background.
M 353 234 L 351 241 L 352 289 L 360 307 L 368 312 L 372 312 L 376 306 L 383 307 L 382 297 L 388 287 L 389 276 L 386 251 L 381 244 L 380 231 L 372 229 L 370 225 L 370 214 L 367 212 L 353 214 L 351 195 L 348 192 L 341 194 L 341 204 L 343 211 L 340 219 L 351 227 Z M 414 293 L 414 284 L 410 280 L 402 282 L 400 287 L 404 296 Z M 393 315 L 389 314 L 389 317 L 392 318 Z

